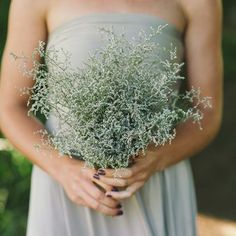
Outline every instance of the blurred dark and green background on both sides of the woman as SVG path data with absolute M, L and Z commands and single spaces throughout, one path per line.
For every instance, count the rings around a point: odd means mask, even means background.
M 0 58 L 9 0 L 0 0 Z M 191 158 L 199 212 L 236 221 L 236 2 L 224 1 L 224 117 L 219 135 Z M 203 26 L 204 27 L 204 26 Z M 31 164 L 0 134 L 0 235 L 25 235 Z

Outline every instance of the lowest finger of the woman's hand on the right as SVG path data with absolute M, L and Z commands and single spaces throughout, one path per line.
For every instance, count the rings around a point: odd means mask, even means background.
M 106 192 L 106 196 L 111 196 L 114 199 L 121 200 L 132 197 L 135 192 L 143 186 L 144 182 L 135 182 L 124 191 L 119 192 Z

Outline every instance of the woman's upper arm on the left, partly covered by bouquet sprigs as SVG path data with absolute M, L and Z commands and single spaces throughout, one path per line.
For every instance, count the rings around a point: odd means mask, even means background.
M 32 80 L 23 77 L 10 56 L 11 53 L 31 57 L 39 40 L 46 41 L 46 1 L 13 0 L 10 6 L 7 41 L 3 53 L 0 80 L 1 108 L 25 105 L 27 98 L 17 88 L 32 86 Z M 29 66 L 31 64 L 29 63 Z

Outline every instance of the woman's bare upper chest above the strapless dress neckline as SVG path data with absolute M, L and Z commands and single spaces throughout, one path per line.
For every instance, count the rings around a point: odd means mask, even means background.
M 178 0 L 58 0 L 48 10 L 48 33 L 79 16 L 97 12 L 139 12 L 158 16 L 174 24 L 179 31 L 186 25 Z

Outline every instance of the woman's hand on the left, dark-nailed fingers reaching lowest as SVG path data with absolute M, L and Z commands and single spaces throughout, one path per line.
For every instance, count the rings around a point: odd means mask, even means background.
M 62 160 L 56 179 L 63 186 L 71 201 L 105 215 L 122 215 L 119 201 L 105 195 L 106 191 L 112 190 L 112 186 L 94 178 L 95 169 L 85 167 L 83 161 L 68 157 L 62 158 L 64 160 Z

